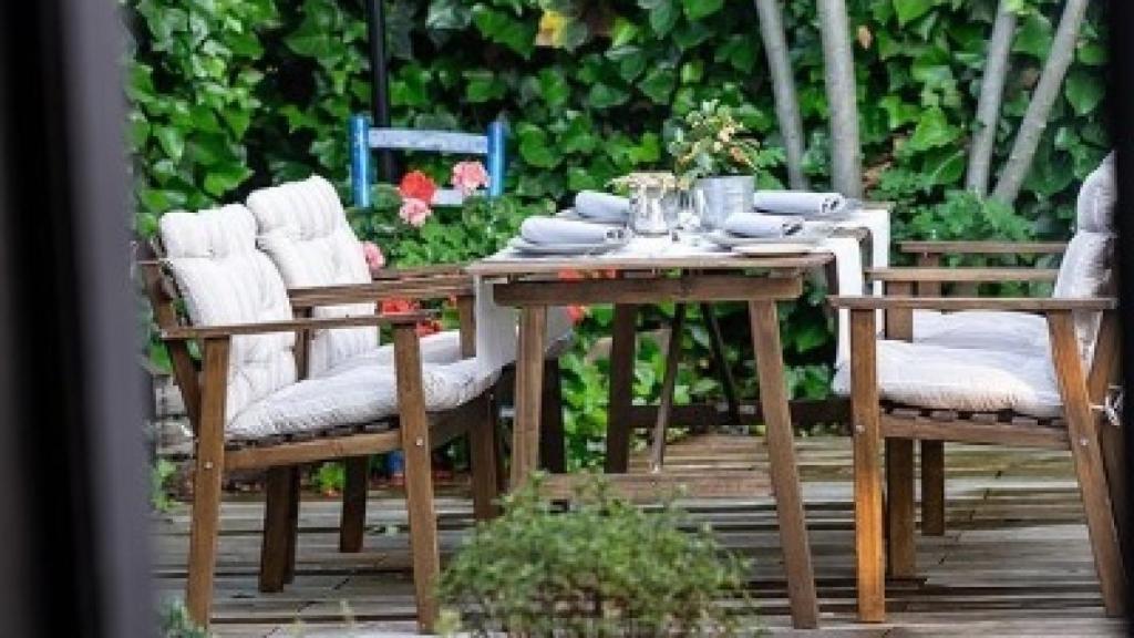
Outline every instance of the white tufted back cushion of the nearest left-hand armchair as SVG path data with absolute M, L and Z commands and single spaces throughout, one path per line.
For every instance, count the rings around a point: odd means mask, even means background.
M 291 318 L 287 289 L 256 250 L 256 223 L 239 204 L 166 213 L 159 224 L 168 267 L 195 326 Z M 293 333 L 232 337 L 227 421 L 296 380 Z

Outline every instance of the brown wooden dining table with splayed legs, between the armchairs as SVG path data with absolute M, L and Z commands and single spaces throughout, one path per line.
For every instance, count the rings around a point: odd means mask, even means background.
M 814 573 L 804 520 L 788 388 L 784 375 L 777 303 L 803 294 L 806 272 L 833 261 L 828 252 L 798 255 L 678 255 L 626 259 L 607 255 L 527 258 L 497 255 L 474 262 L 467 271 L 494 282 L 500 305 L 519 311 L 516 361 L 511 486 L 538 469 L 544 344 L 548 309 L 564 305 L 613 304 L 613 341 L 608 421 L 608 475 L 612 488 L 635 500 L 659 497 L 680 488 L 689 497 L 752 500 L 773 495 L 788 584 L 793 624 L 818 624 Z M 565 279 L 562 271 L 584 276 Z M 591 276 L 587 276 L 587 275 Z M 743 302 L 747 304 L 765 426 L 769 477 L 754 470 L 667 472 L 661 467 L 625 473 L 633 406 L 635 319 L 640 305 L 662 303 Z M 672 338 L 677 338 L 676 336 Z M 610 473 L 612 471 L 617 473 Z M 584 475 L 551 475 L 543 484 L 549 498 L 568 498 Z

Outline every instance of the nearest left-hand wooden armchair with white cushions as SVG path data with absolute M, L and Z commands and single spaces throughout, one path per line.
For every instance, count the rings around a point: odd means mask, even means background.
M 195 435 L 186 595 L 193 619 L 210 620 L 225 471 L 268 470 L 261 587 L 278 589 L 295 569 L 298 467 L 401 450 L 418 624 L 431 628 L 439 554 L 430 451 L 469 434 L 476 513 L 491 515 L 496 376 L 473 359 L 423 364 L 416 325 L 429 313 L 304 314 L 329 302 L 449 294 L 465 289 L 463 284 L 408 279 L 289 295 L 256 250 L 255 221 L 240 205 L 168 213 L 156 247 L 142 271 Z M 306 377 L 304 345 L 314 330 L 378 326 L 393 331 L 388 361 Z M 193 341 L 201 345 L 200 366 L 191 356 Z

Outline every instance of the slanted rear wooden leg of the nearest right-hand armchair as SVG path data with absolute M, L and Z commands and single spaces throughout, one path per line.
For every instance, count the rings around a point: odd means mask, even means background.
M 1106 469 L 1099 450 L 1098 419 L 1091 411 L 1074 317 L 1069 311 L 1049 313 L 1048 328 L 1072 457 L 1075 460 L 1075 473 L 1083 496 L 1086 529 L 1094 552 L 1094 569 L 1102 589 L 1102 603 L 1107 615 L 1119 616 L 1125 611 L 1126 571 L 1118 547 Z

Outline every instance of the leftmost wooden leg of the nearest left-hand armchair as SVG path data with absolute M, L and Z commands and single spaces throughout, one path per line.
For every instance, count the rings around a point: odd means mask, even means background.
M 185 606 L 189 618 L 209 627 L 213 571 L 220 529 L 221 476 L 225 467 L 225 402 L 228 380 L 228 338 L 204 339 L 204 383 L 193 473 L 193 522 L 189 527 L 189 574 Z

